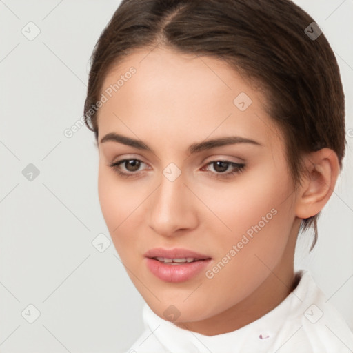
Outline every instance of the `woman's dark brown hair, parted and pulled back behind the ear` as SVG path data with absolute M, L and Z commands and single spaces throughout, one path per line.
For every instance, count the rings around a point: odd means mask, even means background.
M 105 77 L 137 49 L 156 46 L 208 55 L 253 79 L 266 97 L 264 109 L 285 137 L 294 187 L 306 152 L 331 148 L 345 154 L 345 97 L 339 66 L 324 34 L 304 30 L 314 19 L 290 0 L 123 0 L 91 57 L 85 123 L 98 139 L 99 101 Z M 320 214 L 321 212 L 319 212 Z M 319 214 L 301 222 L 314 228 Z

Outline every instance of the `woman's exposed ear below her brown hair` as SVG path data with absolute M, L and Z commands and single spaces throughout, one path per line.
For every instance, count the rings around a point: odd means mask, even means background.
M 304 157 L 306 173 L 296 199 L 296 216 L 306 219 L 318 214 L 330 199 L 339 176 L 339 159 L 330 148 Z

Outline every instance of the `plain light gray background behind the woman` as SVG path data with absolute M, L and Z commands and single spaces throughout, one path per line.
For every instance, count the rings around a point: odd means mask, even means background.
M 349 143 L 319 241 L 307 256 L 311 236 L 301 236 L 296 268 L 312 272 L 353 328 L 353 1 L 295 2 L 338 58 Z M 88 60 L 118 5 L 0 0 L 0 352 L 123 352 L 143 330 L 143 299 L 113 245 L 92 245 L 109 238 L 93 133 L 63 133 L 82 116 Z M 34 34 L 30 21 L 41 31 L 32 41 L 21 32 Z M 29 163 L 40 172 L 32 181 L 22 174 Z

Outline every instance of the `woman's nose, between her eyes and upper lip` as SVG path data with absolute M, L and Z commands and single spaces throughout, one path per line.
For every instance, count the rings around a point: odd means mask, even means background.
M 183 173 L 174 181 L 162 175 L 149 208 L 149 225 L 157 234 L 173 236 L 197 226 L 196 196 L 186 185 Z

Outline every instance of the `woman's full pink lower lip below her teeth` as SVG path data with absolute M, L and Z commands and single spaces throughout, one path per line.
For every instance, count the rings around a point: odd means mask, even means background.
M 183 265 L 169 265 L 161 261 L 146 258 L 148 269 L 165 282 L 179 283 L 188 281 L 199 274 L 210 263 L 211 259 L 194 261 Z

